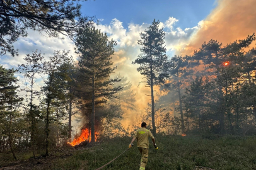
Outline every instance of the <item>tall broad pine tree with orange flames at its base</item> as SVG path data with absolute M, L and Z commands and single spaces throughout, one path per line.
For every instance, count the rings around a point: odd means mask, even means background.
M 95 142 L 95 105 L 107 102 L 107 98 L 117 93 L 119 88 L 109 88 L 110 74 L 116 69 L 112 67 L 111 55 L 117 43 L 108 40 L 107 34 L 95 28 L 84 28 L 79 30 L 76 38 L 80 74 L 78 79 L 81 87 L 87 89 L 83 99 L 91 101 L 91 142 Z M 88 94 L 89 93 L 89 94 Z

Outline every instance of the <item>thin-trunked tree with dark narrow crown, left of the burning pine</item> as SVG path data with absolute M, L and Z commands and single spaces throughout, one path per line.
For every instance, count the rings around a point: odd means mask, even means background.
M 58 120 L 59 109 L 63 110 L 63 102 L 66 101 L 65 89 L 67 82 L 71 81 L 68 69 L 72 62 L 71 57 L 68 56 L 68 52 L 55 51 L 53 56 L 49 57 L 49 61 L 44 62 L 44 73 L 47 75 L 45 79 L 45 86 L 42 87 L 42 91 L 45 94 L 44 102 L 46 105 L 46 116 L 45 116 L 45 155 L 49 156 L 49 125 L 50 120 Z M 62 104 L 61 104 L 62 103 Z M 53 115 L 53 108 L 56 112 Z M 54 116 L 54 117 L 52 117 Z

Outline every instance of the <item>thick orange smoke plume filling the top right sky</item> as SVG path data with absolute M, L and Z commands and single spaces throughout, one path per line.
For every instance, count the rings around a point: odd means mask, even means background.
M 256 31 L 256 0 L 219 0 L 218 6 L 200 21 L 199 29 L 177 54 L 190 55 L 211 39 L 226 45 L 244 39 Z M 255 46 L 255 45 L 254 45 Z

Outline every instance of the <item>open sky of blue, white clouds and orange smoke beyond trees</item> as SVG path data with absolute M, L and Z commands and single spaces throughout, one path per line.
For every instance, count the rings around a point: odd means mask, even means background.
M 95 0 L 82 3 L 81 12 L 86 16 L 95 16 L 100 22 L 95 25 L 107 33 L 108 37 L 117 41 L 113 63 L 117 65 L 115 74 L 128 77 L 132 90 L 136 93 L 136 111 L 125 113 L 124 121 L 132 122 L 137 113 L 141 113 L 150 98 L 149 88 L 144 84 L 138 86 L 143 76 L 136 71 L 139 65 L 132 61 L 140 54 L 139 33 L 143 32 L 154 19 L 160 21 L 165 30 L 165 45 L 169 57 L 173 55 L 192 55 L 202 43 L 211 39 L 223 45 L 246 38 L 256 30 L 256 0 Z M 28 30 L 28 37 L 20 37 L 15 42 L 19 56 L 6 54 L 0 57 L 0 64 L 10 69 L 23 63 L 26 54 L 33 50 L 52 55 L 54 50 L 70 50 L 74 59 L 74 43 L 67 37 L 64 39 L 49 38 Z M 113 75 L 114 76 L 114 75 Z M 20 85 L 25 80 L 19 76 Z M 39 89 L 42 81 L 38 79 Z M 157 89 L 157 87 L 156 87 Z

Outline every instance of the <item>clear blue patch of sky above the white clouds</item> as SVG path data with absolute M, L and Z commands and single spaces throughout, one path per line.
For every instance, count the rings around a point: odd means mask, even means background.
M 172 16 L 179 20 L 178 27 L 185 29 L 204 20 L 216 4 L 216 0 L 96 0 L 85 1 L 82 13 L 102 19 L 100 23 L 103 25 L 116 18 L 122 21 L 125 29 L 131 23 L 141 25 L 151 23 L 154 19 L 166 21 Z

